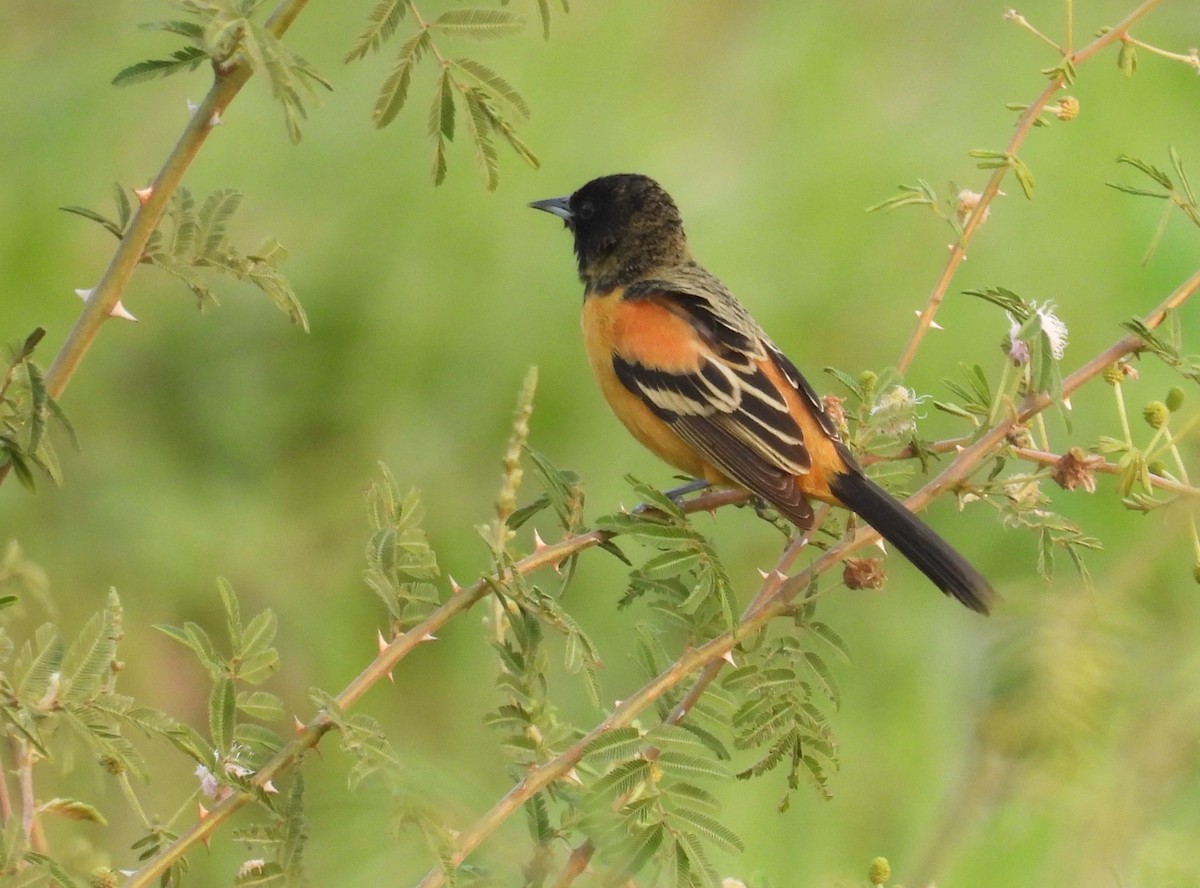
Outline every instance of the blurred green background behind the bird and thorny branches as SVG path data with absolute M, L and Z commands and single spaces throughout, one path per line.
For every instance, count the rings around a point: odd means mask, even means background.
M 292 250 L 283 270 L 311 335 L 247 287 L 217 281 L 221 307 L 198 313 L 181 286 L 140 270 L 125 296 L 139 323 L 106 326 L 62 398 L 82 442 L 78 454 L 62 448 L 65 486 L 29 496 L 10 479 L 0 491 L 0 539 L 19 539 L 48 571 L 66 630 L 116 588 L 125 690 L 197 726 L 203 676 L 150 626 L 190 619 L 218 631 L 216 576 L 239 590 L 244 612 L 277 612 L 283 668 L 269 688 L 301 718 L 311 715 L 307 688 L 336 691 L 374 655 L 384 616 L 360 577 L 362 492 L 378 461 L 422 491 L 445 571 L 467 582 L 486 566 L 473 528 L 491 517 L 529 365 L 540 368 L 532 443 L 583 476 L 589 516 L 631 504 L 625 473 L 668 482 L 594 392 L 569 236 L 528 200 L 604 173 L 655 176 L 679 203 L 701 260 L 818 389 L 833 390 L 826 366 L 857 373 L 895 361 L 950 240 L 923 211 L 864 208 L 918 176 L 943 194 L 950 180 L 982 188 L 985 174 L 966 152 L 1003 148 L 1015 118 L 1004 104 L 1032 101 L 1039 70 L 1056 61 L 1002 20 L 1000 2 L 576 0 L 569 16 L 556 14 L 548 42 L 534 24 L 523 37 L 451 47 L 499 70 L 534 109 L 521 134 L 541 169 L 502 149 L 500 185 L 488 193 L 463 139 L 448 182 L 431 184 L 428 71 L 390 128 L 371 126 L 388 52 L 352 66 L 342 56 L 372 5 L 313 4 L 288 35 L 335 84 L 299 145 L 263 84 L 251 83 L 186 180 L 197 194 L 246 192 L 234 239 L 253 248 L 275 235 Z M 1132 5 L 1075 4 L 1076 41 Z M 448 4 L 419 6 L 432 14 Z M 536 17 L 532 2 L 511 8 Z M 1062 32 L 1061 4 L 1021 12 Z M 206 90 L 203 71 L 109 85 L 121 67 L 174 48 L 134 26 L 170 14 L 149 1 L 0 8 L 0 335 L 16 343 L 46 326 L 43 365 L 78 316 L 72 290 L 96 282 L 113 248 L 97 226 L 56 208 L 107 211 L 114 180 L 145 185 L 186 101 Z M 1200 43 L 1200 8 L 1165 2 L 1135 32 L 1186 52 Z M 1182 218 L 1141 266 L 1160 204 L 1104 186 L 1135 181 L 1120 154 L 1165 168 L 1172 144 L 1200 176 L 1200 79 L 1181 64 L 1139 60 L 1133 79 L 1120 76 L 1115 49 L 1084 65 L 1070 90 L 1079 119 L 1030 138 L 1022 158 L 1036 199 L 1009 180 L 938 316 L 946 330 L 912 367 L 918 391 L 944 397 L 941 380 L 964 360 L 998 377 L 1007 320 L 958 296 L 962 289 L 1003 286 L 1056 302 L 1072 330 L 1069 370 L 1195 270 L 1196 232 Z M 1182 317 L 1189 329 L 1196 308 Z M 1151 361 L 1141 370 L 1127 391 L 1135 414 L 1174 384 Z M 1048 415 L 1060 449 L 1117 433 L 1103 384 L 1074 398 L 1074 414 L 1072 433 Z M 930 410 L 922 431 L 958 430 Z M 1148 430 L 1135 434 L 1145 440 Z M 1193 468 L 1195 456 L 1188 442 Z M 1093 496 L 1046 493 L 1105 542 L 1088 560 L 1093 588 L 1066 558 L 1045 583 L 1032 535 L 947 502 L 929 520 L 1003 592 L 991 620 L 943 600 L 899 559 L 886 592 L 826 596 L 824 618 L 854 650 L 838 671 L 844 764 L 833 799 L 802 790 L 779 814 L 779 776 L 731 787 L 725 816 L 746 852 L 719 857 L 722 872 L 761 872 L 775 886 L 860 884 L 883 854 L 901 882 L 1200 884 L 1200 600 L 1186 516 L 1127 512 L 1111 480 Z M 743 510 L 698 523 L 749 598 L 755 568 L 774 563 L 778 534 Z M 587 553 L 580 571 L 566 605 L 602 640 L 606 692 L 620 698 L 637 686 L 623 646 L 641 614 L 616 611 L 614 559 Z M 481 614 L 416 652 L 395 686 L 364 706 L 463 826 L 509 785 L 496 737 L 480 728 L 497 702 Z M 30 604 L 23 625 L 44 617 Z M 346 766 L 326 743 L 305 768 L 314 883 L 410 882 L 427 865 L 424 852 L 392 836 L 385 798 L 344 791 Z M 108 850 L 114 865 L 132 865 L 125 848 L 137 827 L 113 787 L 83 766 L 65 781 L 42 779 L 47 794 L 97 800 L 110 821 L 52 833 L 64 851 L 83 863 Z M 168 752 L 146 788 L 149 808 L 168 816 L 192 780 Z M 487 854 L 516 865 L 503 851 Z M 228 835 L 218 839 L 193 854 L 194 882 L 228 882 L 244 857 Z

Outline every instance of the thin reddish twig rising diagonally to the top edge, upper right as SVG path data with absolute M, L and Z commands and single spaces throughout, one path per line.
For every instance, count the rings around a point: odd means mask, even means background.
M 1159 2 L 1162 2 L 1162 0 L 1146 0 L 1146 2 L 1141 4 L 1138 8 L 1126 16 L 1118 25 L 1105 31 L 1086 47 L 1076 53 L 1069 54 L 1067 58 L 1073 65 L 1078 66 L 1080 62 L 1086 61 L 1109 44 L 1123 40 L 1134 23 L 1158 6 Z M 1033 103 L 1021 113 L 1021 116 L 1016 119 L 1016 128 L 1013 131 L 1013 138 L 1009 139 L 1008 148 L 1004 149 L 1006 156 L 1016 156 L 1018 149 L 1020 149 L 1021 144 L 1025 142 L 1025 137 L 1030 134 L 1030 131 L 1042 115 L 1042 112 L 1045 110 L 1045 107 L 1050 103 L 1054 94 L 1061 90 L 1066 83 L 1067 77 L 1064 73 L 1056 74 L 1050 83 L 1046 84 L 1045 89 L 1042 90 L 1042 94 L 1033 101 Z M 896 368 L 901 373 L 908 370 L 908 365 L 912 364 L 913 358 L 916 358 L 917 348 L 920 346 L 920 342 L 925 336 L 925 331 L 928 331 L 930 325 L 934 323 L 934 316 L 937 314 L 937 310 L 942 305 L 942 300 L 946 298 L 946 292 L 949 289 L 954 274 L 966 258 L 967 245 L 971 242 L 976 230 L 978 230 L 984 217 L 988 215 L 988 208 L 991 205 L 991 202 L 995 200 L 996 196 L 1000 193 L 1001 182 L 1004 181 L 1004 176 L 1008 175 L 1008 170 L 1009 167 L 1006 164 L 997 167 L 996 172 L 991 174 L 991 178 L 988 180 L 988 185 L 984 186 L 983 193 L 979 196 L 979 202 L 976 204 L 971 215 L 967 217 L 966 223 L 962 226 L 962 234 L 950 247 L 950 256 L 946 260 L 942 274 L 938 276 L 932 292 L 929 294 L 929 300 L 925 302 L 925 308 L 917 318 L 917 328 L 912 331 L 912 336 L 908 338 L 908 343 L 905 346 L 904 352 L 900 355 L 900 360 L 896 364 Z

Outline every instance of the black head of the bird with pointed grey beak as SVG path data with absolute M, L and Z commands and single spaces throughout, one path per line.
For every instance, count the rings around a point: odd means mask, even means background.
M 570 197 L 529 204 L 562 218 L 575 234 L 588 292 L 631 283 L 655 269 L 691 262 L 671 196 L 644 175 L 593 179 Z

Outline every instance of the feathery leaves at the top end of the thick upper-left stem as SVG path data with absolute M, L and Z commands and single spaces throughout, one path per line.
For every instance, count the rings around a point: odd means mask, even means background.
M 113 84 L 126 86 L 194 71 L 205 60 L 212 64 L 217 77 L 245 65 L 270 84 L 271 95 L 283 108 L 288 136 L 299 142 L 300 121 L 307 116 L 304 95 L 311 95 L 316 85 L 332 86 L 312 65 L 253 19 L 262 5 L 262 0 L 176 0 L 175 6 L 188 18 L 151 22 L 143 28 L 182 37 L 186 44 L 166 59 L 150 59 L 122 68 Z

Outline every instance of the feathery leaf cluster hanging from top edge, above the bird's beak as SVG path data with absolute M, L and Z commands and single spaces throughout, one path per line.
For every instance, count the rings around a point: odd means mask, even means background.
M 563 10 L 568 8 L 566 2 Z M 539 0 L 542 32 L 550 35 L 550 6 Z M 460 116 L 475 151 L 475 161 L 487 187 L 499 181 L 497 140 L 504 142 L 526 163 L 536 168 L 538 157 L 516 134 L 516 126 L 529 118 L 529 104 L 517 89 L 484 62 L 444 53 L 439 38 L 487 41 L 508 37 L 524 29 L 524 20 L 508 10 L 450 8 L 433 18 L 424 18 L 410 0 L 380 0 L 372 10 L 367 26 L 346 55 L 347 61 L 365 59 L 380 52 L 391 41 L 404 18 L 415 22 L 415 32 L 401 44 L 376 98 L 372 119 L 377 127 L 388 126 L 404 108 L 413 73 L 425 60 L 436 62 L 433 95 L 430 102 L 428 134 L 433 142 L 433 181 L 446 176 L 449 144 L 458 130 Z M 462 112 L 466 110 L 466 115 Z

